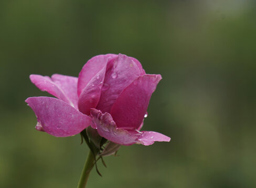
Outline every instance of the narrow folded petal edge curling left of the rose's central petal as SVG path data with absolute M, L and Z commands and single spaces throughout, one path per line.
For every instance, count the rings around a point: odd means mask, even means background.
M 99 73 L 94 75 L 87 86 L 83 89 L 78 100 L 78 108 L 80 112 L 90 115 L 90 109 L 97 106 L 100 100 L 101 88 L 103 86 L 105 72 L 106 64 Z

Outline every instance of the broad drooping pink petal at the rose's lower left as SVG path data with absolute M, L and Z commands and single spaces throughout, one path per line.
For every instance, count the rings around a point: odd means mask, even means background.
M 30 97 L 26 102 L 35 112 L 42 130 L 56 137 L 76 135 L 91 123 L 91 117 L 56 98 Z

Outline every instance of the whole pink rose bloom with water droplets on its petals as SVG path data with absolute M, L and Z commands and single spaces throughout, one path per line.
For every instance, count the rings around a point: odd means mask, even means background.
M 91 126 L 100 136 L 120 145 L 151 145 L 170 138 L 140 132 L 144 115 L 161 75 L 146 74 L 140 62 L 126 55 L 97 55 L 79 77 L 30 75 L 40 90 L 57 97 L 26 100 L 37 116 L 36 129 L 57 137 L 80 133 Z

